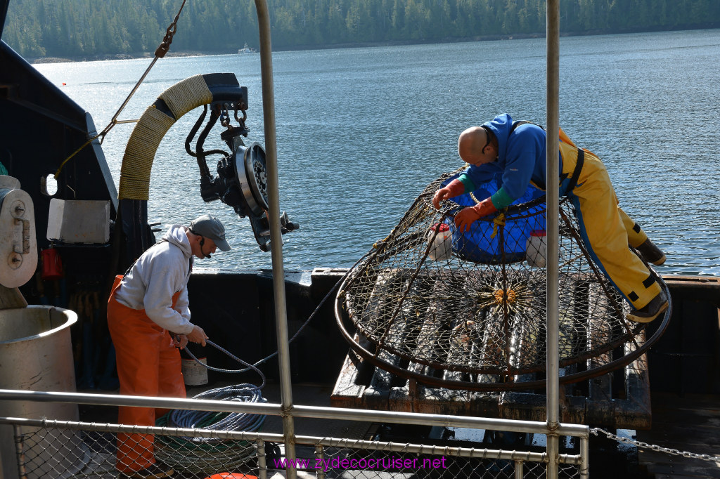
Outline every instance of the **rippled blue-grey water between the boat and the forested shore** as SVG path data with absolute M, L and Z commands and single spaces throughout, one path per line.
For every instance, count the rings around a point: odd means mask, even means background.
M 720 29 L 560 45 L 561 126 L 603 158 L 621 205 L 667 252 L 660 272 L 720 275 Z M 427 183 L 462 164 L 456 141 L 466 127 L 505 111 L 544 124 L 544 54 L 542 39 L 274 53 L 280 207 L 301 225 L 284 237 L 285 268 L 352 265 Z M 149 63 L 37 69 L 102 129 Z M 216 72 L 248 86 L 248 140 L 264 145 L 259 55 L 159 60 L 120 118 L 140 117 L 188 76 Z M 248 219 L 200 198 L 197 163 L 184 151 L 198 115 L 186 114 L 158 149 L 150 222 L 164 228 L 211 212 L 233 251 L 204 266 L 270 268 Z M 131 131 L 118 125 L 103 145 L 116 185 Z M 218 146 L 219 137 L 217 129 Z

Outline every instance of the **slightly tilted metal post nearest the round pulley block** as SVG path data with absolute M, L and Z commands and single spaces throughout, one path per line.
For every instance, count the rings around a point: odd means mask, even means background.
M 285 303 L 285 271 L 282 259 L 280 230 L 280 195 L 278 191 L 277 137 L 275 131 L 275 91 L 272 76 L 270 42 L 270 14 L 266 0 L 255 0 L 260 30 L 260 72 L 263 89 L 263 119 L 265 126 L 265 161 L 268 175 L 268 220 L 275 301 L 275 327 L 280 366 L 280 395 L 282 426 L 285 437 L 285 457 L 294 460 L 295 426 L 292 418 L 292 381 L 290 380 L 289 342 L 287 334 L 287 304 Z M 291 461 L 288 461 L 291 462 Z M 292 461 L 294 464 L 294 461 Z M 294 466 L 287 468 L 287 478 L 295 479 Z

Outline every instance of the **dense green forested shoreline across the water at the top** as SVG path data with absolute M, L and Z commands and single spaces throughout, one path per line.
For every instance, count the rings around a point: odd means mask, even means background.
M 545 0 L 269 0 L 275 50 L 544 36 Z M 181 0 L 12 0 L 3 40 L 25 58 L 152 55 Z M 561 33 L 720 27 L 718 0 L 560 0 Z M 175 54 L 258 47 L 251 0 L 187 1 Z

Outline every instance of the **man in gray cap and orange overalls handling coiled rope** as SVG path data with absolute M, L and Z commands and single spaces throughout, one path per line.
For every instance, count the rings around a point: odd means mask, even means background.
M 194 257 L 229 251 L 225 227 L 208 214 L 189 227 L 174 224 L 124 276 L 118 275 L 107 304 L 107 324 L 117 355 L 120 394 L 185 398 L 178 348 L 205 345 L 207 335 L 190 322 L 187 282 Z M 162 410 L 121 407 L 120 424 L 154 426 Z M 117 434 L 117 470 L 125 478 L 168 478 L 156 462 L 153 434 Z

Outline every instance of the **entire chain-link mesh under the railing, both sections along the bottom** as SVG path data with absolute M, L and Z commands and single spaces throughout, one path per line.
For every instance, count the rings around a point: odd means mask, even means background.
M 173 478 L 272 478 L 294 466 L 330 478 L 544 478 L 546 454 L 516 450 L 297 437 L 297 459 L 284 457 L 282 435 L 124 426 L 77 421 L 3 419 L 14 427 L 19 478 L 124 478 L 117 437 L 142 437 L 150 457 Z M 122 436 L 121 436 L 122 437 Z M 140 452 L 138 461 L 142 460 Z M 560 478 L 581 478 L 580 455 L 559 457 Z M 130 463 L 130 467 L 138 464 Z M 162 475 L 152 477 L 164 477 Z

